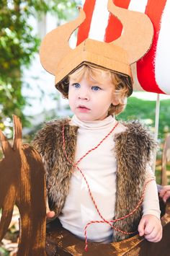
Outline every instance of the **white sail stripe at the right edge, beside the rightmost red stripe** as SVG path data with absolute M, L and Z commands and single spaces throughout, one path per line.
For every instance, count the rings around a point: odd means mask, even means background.
M 170 0 L 166 1 L 166 6 L 161 17 L 161 30 L 159 32 L 156 48 L 155 72 L 158 87 L 170 94 Z

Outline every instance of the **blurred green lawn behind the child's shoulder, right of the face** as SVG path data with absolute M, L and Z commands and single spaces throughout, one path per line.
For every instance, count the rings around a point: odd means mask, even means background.
M 136 97 L 128 98 L 128 105 L 124 112 L 118 115 L 119 120 L 140 120 L 154 130 L 156 102 L 140 100 Z M 164 138 L 170 133 L 170 100 L 161 100 L 158 138 Z

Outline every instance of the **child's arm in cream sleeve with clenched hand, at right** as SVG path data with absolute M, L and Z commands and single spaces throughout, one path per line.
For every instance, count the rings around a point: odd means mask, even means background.
M 151 178 L 155 179 L 155 176 L 151 168 L 147 167 L 146 182 Z M 140 237 L 144 236 L 150 242 L 159 242 L 161 240 L 162 226 L 160 213 L 156 181 L 152 180 L 146 187 L 143 199 L 143 217 L 138 226 Z

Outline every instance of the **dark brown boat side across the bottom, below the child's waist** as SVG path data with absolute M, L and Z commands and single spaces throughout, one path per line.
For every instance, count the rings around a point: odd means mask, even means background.
M 165 205 L 161 203 L 161 212 L 165 211 Z M 50 222 L 47 229 L 46 247 L 47 255 L 69 255 L 69 256 L 169 256 L 170 243 L 170 200 L 166 203 L 166 214 L 161 218 L 163 226 L 163 237 L 161 242 L 148 242 L 138 234 L 134 237 L 102 244 L 88 242 L 88 251 L 84 251 L 84 240 L 74 236 L 66 229 L 63 229 L 58 219 Z

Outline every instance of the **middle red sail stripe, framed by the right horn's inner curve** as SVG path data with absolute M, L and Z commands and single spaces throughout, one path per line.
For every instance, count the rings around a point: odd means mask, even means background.
M 113 0 L 116 6 L 128 9 L 130 0 Z M 122 23 L 112 14 L 109 14 L 108 25 L 106 28 L 104 41 L 109 43 L 120 37 L 122 32 Z

